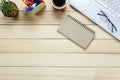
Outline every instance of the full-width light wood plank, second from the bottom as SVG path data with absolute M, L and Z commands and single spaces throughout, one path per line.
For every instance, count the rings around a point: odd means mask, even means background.
M 120 68 L 120 55 L 114 54 L 0 54 L 1 67 Z

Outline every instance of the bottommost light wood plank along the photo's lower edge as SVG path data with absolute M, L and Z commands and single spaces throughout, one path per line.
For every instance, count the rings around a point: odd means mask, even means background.
M 53 80 L 58 78 L 64 80 L 119 80 L 120 68 L 0 67 L 0 80 L 39 80 L 41 78 L 43 80 L 51 78 Z

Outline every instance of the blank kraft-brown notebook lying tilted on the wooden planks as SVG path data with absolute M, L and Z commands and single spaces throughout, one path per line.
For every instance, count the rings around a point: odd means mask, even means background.
M 86 49 L 95 37 L 95 32 L 68 15 L 58 28 L 65 37 Z

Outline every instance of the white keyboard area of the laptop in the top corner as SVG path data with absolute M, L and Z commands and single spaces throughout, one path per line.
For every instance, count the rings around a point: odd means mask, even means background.
M 116 17 L 120 17 L 120 0 L 96 0 Z

